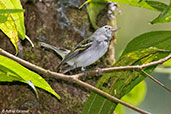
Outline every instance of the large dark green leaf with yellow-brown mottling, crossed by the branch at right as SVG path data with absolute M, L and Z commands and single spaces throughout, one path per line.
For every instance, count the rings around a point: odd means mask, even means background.
M 170 42 L 171 31 L 156 31 L 140 35 L 127 45 L 114 66 L 142 65 L 159 60 L 167 56 L 168 53 L 160 52 L 158 49 L 171 50 Z M 151 66 L 144 70 L 150 73 L 155 67 Z M 121 98 L 144 78 L 146 76 L 137 70 L 113 71 L 105 73 L 96 87 L 117 98 Z M 83 114 L 112 114 L 116 106 L 117 103 L 92 92 L 85 104 Z

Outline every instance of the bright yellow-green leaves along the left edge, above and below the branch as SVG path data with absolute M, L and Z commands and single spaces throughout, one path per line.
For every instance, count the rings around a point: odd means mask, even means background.
M 21 6 L 20 0 L 0 0 L 0 29 L 10 38 L 16 52 L 18 52 L 17 42 L 18 36 L 24 40 L 25 38 L 31 40 L 25 35 L 24 26 L 24 9 Z M 50 85 L 37 73 L 34 73 L 20 64 L 0 55 L 0 81 L 13 82 L 19 81 L 28 84 L 36 93 L 35 86 L 42 88 L 58 99 L 59 95 L 50 87 Z

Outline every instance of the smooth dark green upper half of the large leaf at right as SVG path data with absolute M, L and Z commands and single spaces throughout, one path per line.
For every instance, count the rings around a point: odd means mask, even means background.
M 156 47 L 171 50 L 171 31 L 153 31 L 137 36 L 128 43 L 122 56 L 136 50 Z

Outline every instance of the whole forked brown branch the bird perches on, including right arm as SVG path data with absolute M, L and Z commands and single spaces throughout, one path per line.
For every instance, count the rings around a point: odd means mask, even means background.
M 118 103 L 120 103 L 120 104 L 122 104 L 122 105 L 124 105 L 124 106 L 126 106 L 128 108 L 131 108 L 131 109 L 133 109 L 133 110 L 135 110 L 135 111 L 137 111 L 139 113 L 150 114 L 149 112 L 146 112 L 146 111 L 144 111 L 142 109 L 134 107 L 134 106 L 132 106 L 130 104 L 127 104 L 127 103 L 121 101 L 120 99 L 118 99 L 118 98 L 116 98 L 114 96 L 111 96 L 110 94 L 105 93 L 105 92 L 95 88 L 94 86 L 91 86 L 90 84 L 87 84 L 87 83 L 79 80 L 78 78 L 80 76 L 84 76 L 85 75 L 84 73 L 75 74 L 75 75 L 65 75 L 65 74 L 61 74 L 61 73 L 56 73 L 56 72 L 52 72 L 52 71 L 43 69 L 43 68 L 41 68 L 39 66 L 36 66 L 36 65 L 34 65 L 34 64 L 30 63 L 30 62 L 27 62 L 27 61 L 25 61 L 23 59 L 20 59 L 20 58 L 18 58 L 16 56 L 4 51 L 1 48 L 0 48 L 0 54 L 4 55 L 4 56 L 6 56 L 6 57 L 8 57 L 10 59 L 13 59 L 13 60 L 17 61 L 18 63 L 20 63 L 20 64 L 22 64 L 22 65 L 24 65 L 24 66 L 38 72 L 38 73 L 41 73 L 41 74 L 49 76 L 49 77 L 55 77 L 55 78 L 58 78 L 58 79 L 63 79 L 63 80 L 68 80 L 68 81 L 75 82 L 75 83 L 79 84 L 80 86 L 88 88 L 88 89 L 90 89 L 90 90 L 92 90 L 92 91 L 94 91 L 94 92 L 96 92 L 96 93 L 98 93 L 98 94 L 112 100 L 112 101 L 118 102 Z M 169 56 L 167 56 L 167 57 L 165 57 L 163 59 L 160 59 L 158 61 L 154 61 L 154 62 L 144 64 L 144 65 L 103 68 L 103 69 L 101 69 L 101 71 L 102 72 L 111 72 L 111 71 L 115 71 L 115 70 L 129 70 L 129 69 L 140 69 L 141 70 L 142 68 L 145 68 L 145 67 L 149 67 L 149 66 L 153 66 L 153 65 L 157 65 L 157 64 L 162 64 L 165 61 L 169 60 L 170 58 L 171 58 L 171 55 L 169 55 Z M 91 75 L 92 74 L 97 74 L 97 73 L 98 73 L 98 70 L 92 70 L 92 71 L 89 72 L 89 74 L 91 74 Z

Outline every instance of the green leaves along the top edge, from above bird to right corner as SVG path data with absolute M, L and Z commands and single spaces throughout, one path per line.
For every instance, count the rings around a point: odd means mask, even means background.
M 171 21 L 171 5 L 168 6 L 162 2 L 151 0 L 143 0 L 141 2 L 139 2 L 139 0 L 87 0 L 84 4 L 89 3 L 89 5 L 87 6 L 87 11 L 90 18 L 90 22 L 95 29 L 98 28 L 96 25 L 96 17 L 99 12 L 104 8 L 106 2 L 109 1 L 136 7 L 142 7 L 154 11 L 161 11 L 161 14 L 151 22 L 152 24 Z M 80 6 L 80 8 L 83 7 L 83 5 Z

